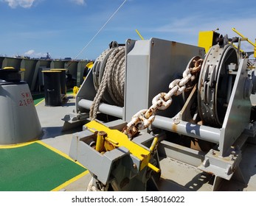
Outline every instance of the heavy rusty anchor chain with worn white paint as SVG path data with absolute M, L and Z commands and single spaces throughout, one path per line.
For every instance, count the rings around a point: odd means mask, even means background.
M 191 83 L 196 79 L 196 74 L 201 70 L 204 60 L 200 57 L 193 57 L 190 62 L 182 74 L 183 78 L 174 79 L 173 82 L 170 82 L 168 93 L 157 94 L 152 99 L 152 106 L 136 113 L 125 128 L 122 129 L 122 132 L 128 135 L 128 138 L 132 139 L 139 130 L 148 128 L 153 123 L 157 110 L 166 110 L 167 107 L 170 107 L 173 102 L 173 95 L 179 96 L 187 87 L 192 88 Z

